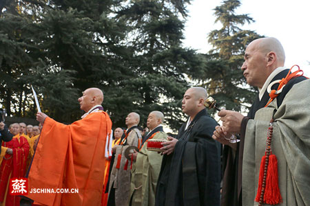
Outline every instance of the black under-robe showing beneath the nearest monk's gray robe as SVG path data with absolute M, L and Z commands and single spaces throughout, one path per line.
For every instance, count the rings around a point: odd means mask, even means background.
M 289 73 L 289 69 L 285 69 L 278 73 L 271 82 L 275 80 L 281 80 L 285 78 Z M 283 87 L 282 92 L 277 97 L 277 104 L 280 106 L 285 98 L 285 95 L 289 92 L 291 87 L 298 82 L 306 80 L 307 78 L 300 76 L 293 78 L 287 82 Z M 273 84 L 271 89 L 278 89 L 279 84 Z M 237 145 L 236 158 L 233 158 L 232 149 L 229 146 L 224 147 L 223 151 L 223 192 L 221 198 L 221 206 L 241 206 L 242 205 L 242 159 L 243 159 L 243 148 L 245 144 L 245 130 L 247 128 L 247 122 L 249 119 L 254 119 L 256 111 L 263 108 L 269 101 L 269 93 L 267 90 L 262 99 L 260 100 L 258 95 L 256 100 L 252 104 L 247 117 L 244 117 L 241 122 L 240 131 L 240 143 Z M 254 200 L 253 200 L 254 201 Z

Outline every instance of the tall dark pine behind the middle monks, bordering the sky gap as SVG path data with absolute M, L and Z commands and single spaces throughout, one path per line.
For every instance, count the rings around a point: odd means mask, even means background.
M 186 16 L 186 2 L 131 1 L 118 12 L 117 17 L 127 19 L 131 26 L 127 45 L 134 52 L 127 68 L 134 71 L 135 76 L 118 84 L 126 91 L 122 95 L 121 91 L 112 90 L 118 93 L 113 102 L 118 102 L 118 97 L 127 107 L 140 113 L 142 124 L 153 110 L 165 113 L 167 123 L 174 129 L 180 127 L 184 118 L 180 100 L 188 87 L 185 74 L 195 73 L 202 66 L 200 56 L 182 47 L 184 21 L 180 16 Z M 121 110 L 118 106 L 115 112 Z

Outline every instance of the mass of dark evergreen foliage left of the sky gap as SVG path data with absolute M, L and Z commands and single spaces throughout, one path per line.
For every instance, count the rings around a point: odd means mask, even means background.
M 184 48 L 189 0 L 19 0 L 0 3 L 0 100 L 10 115 L 34 117 L 30 84 L 43 111 L 61 122 L 81 113 L 89 87 L 105 93 L 114 126 L 136 111 L 145 124 L 163 111 L 176 129 L 187 76 L 203 58 Z

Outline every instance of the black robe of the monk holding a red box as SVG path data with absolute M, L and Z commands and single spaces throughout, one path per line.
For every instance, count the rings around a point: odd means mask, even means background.
M 220 144 L 212 139 L 217 125 L 203 109 L 187 130 L 181 126 L 174 152 L 163 157 L 156 206 L 220 205 Z

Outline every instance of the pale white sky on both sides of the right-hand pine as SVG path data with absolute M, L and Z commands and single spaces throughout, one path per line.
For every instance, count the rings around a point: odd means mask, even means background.
M 242 5 L 236 14 L 249 14 L 254 23 L 242 26 L 242 30 L 254 30 L 264 36 L 278 38 L 285 49 L 285 66 L 299 65 L 310 77 L 310 1 L 294 0 L 241 0 Z M 214 23 L 214 8 L 221 5 L 220 0 L 193 0 L 187 6 L 189 17 L 185 23 L 185 47 L 206 53 L 211 49 L 207 35 L 211 30 L 220 29 Z

